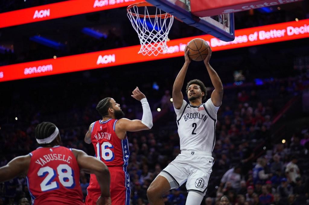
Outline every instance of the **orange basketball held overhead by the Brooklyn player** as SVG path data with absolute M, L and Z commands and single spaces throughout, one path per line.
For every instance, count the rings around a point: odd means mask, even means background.
M 188 56 L 194 61 L 202 61 L 208 55 L 208 43 L 201 38 L 194 38 L 188 43 Z

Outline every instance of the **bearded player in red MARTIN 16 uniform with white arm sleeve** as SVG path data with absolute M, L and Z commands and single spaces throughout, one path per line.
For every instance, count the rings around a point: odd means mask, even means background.
M 152 115 L 145 95 L 136 87 L 131 96 L 142 103 L 142 120 L 123 118 L 125 114 L 120 105 L 113 98 L 104 98 L 96 107 L 103 119 L 92 123 L 85 136 L 85 142 L 93 144 L 97 159 L 102 160 L 111 172 L 112 205 L 130 204 L 130 179 L 126 168 L 130 153 L 126 132 L 152 127 Z M 100 196 L 94 175 L 90 176 L 87 192 L 86 205 L 94 205 Z

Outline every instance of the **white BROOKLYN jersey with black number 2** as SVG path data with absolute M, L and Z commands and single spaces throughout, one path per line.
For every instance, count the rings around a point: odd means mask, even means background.
M 215 144 L 217 111 L 211 99 L 200 106 L 188 104 L 185 100 L 177 114 L 180 150 L 212 152 Z

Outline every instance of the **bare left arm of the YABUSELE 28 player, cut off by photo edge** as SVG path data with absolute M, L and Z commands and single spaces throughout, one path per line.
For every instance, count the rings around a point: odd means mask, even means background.
M 19 175 L 27 175 L 30 155 L 12 159 L 6 166 L 0 168 L 0 183 L 13 179 Z

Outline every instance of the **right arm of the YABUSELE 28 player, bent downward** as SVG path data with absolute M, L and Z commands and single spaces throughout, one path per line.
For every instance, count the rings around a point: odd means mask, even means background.
M 89 174 L 95 174 L 101 188 L 101 196 L 97 201 L 97 205 L 109 205 L 110 199 L 110 173 L 108 167 L 95 157 L 87 155 L 84 151 L 72 149 L 78 166 Z

